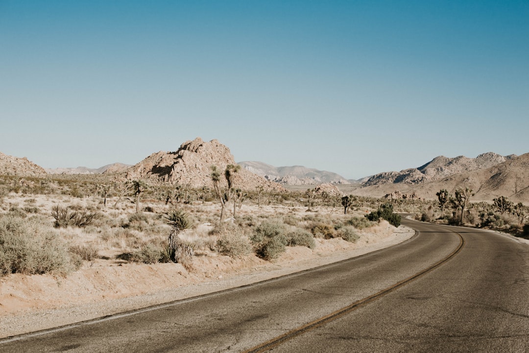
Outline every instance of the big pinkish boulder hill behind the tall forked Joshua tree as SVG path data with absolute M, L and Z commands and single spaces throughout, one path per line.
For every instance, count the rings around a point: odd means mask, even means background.
M 149 179 L 200 188 L 212 188 L 211 166 L 216 165 L 223 171 L 228 164 L 235 164 L 230 149 L 217 140 L 204 142 L 197 137 L 184 142 L 176 152 L 153 153 L 143 161 L 126 169 L 127 179 Z M 223 180 L 223 179 L 222 179 Z M 265 190 L 284 190 L 279 184 L 268 181 L 259 175 L 241 168 L 236 174 L 236 187 L 253 190 L 263 187 Z

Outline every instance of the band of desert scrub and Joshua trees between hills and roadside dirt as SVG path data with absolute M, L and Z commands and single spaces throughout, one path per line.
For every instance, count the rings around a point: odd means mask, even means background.
M 0 275 L 65 276 L 98 263 L 180 263 L 196 256 L 258 256 L 329 239 L 355 243 L 396 212 L 424 221 L 529 232 L 527 208 L 498 198 L 471 202 L 471 190 L 439 200 L 386 200 L 314 189 L 271 193 L 230 182 L 235 166 L 212 169 L 215 188 L 125 181 L 105 175 L 0 176 Z M 229 187 L 222 189 L 222 179 Z M 525 232 L 525 233 L 524 233 Z

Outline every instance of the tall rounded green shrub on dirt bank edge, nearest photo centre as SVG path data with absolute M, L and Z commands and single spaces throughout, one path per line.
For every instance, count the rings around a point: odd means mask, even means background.
M 269 260 L 285 252 L 287 245 L 285 233 L 285 224 L 278 220 L 262 222 L 250 237 L 256 255 Z

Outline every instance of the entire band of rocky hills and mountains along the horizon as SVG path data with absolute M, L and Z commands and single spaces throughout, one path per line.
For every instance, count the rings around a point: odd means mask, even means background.
M 183 143 L 176 152 L 153 153 L 133 166 L 114 163 L 97 169 L 78 167 L 44 170 L 25 157 L 8 156 L 0 152 L 0 174 L 3 175 L 43 177 L 47 173 L 122 173 L 129 179 L 144 178 L 195 187 L 211 183 L 211 165 L 215 164 L 223 170 L 225 165 L 234 163 L 228 147 L 217 140 L 204 142 L 199 137 Z M 239 164 L 242 166 L 242 171 L 238 173 L 239 184 L 248 190 L 259 186 L 267 190 L 281 190 L 278 184 L 330 183 L 342 184 L 354 194 L 365 196 L 384 197 L 398 191 L 397 194 L 435 199 L 435 193 L 441 189 L 453 194 L 457 188 L 468 187 L 476 193 L 474 200 L 505 196 L 515 202 L 529 202 L 529 153 L 502 156 L 488 152 L 476 158 L 438 156 L 417 168 L 378 173 L 360 181 L 346 180 L 333 172 L 299 165 L 275 167 L 255 161 Z

